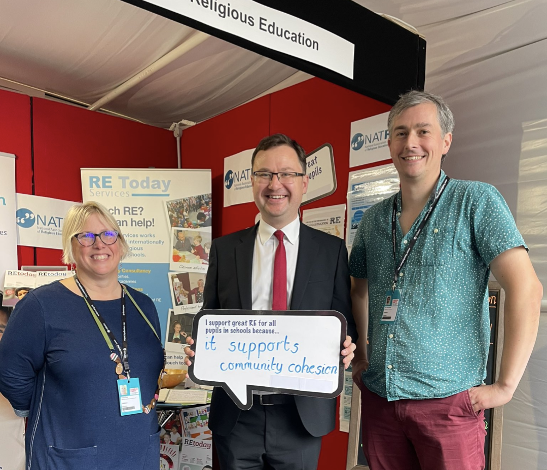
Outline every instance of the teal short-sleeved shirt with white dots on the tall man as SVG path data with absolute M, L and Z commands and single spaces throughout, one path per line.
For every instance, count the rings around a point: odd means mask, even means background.
M 437 189 L 444 181 L 441 176 Z M 490 184 L 450 179 L 401 270 L 394 323 L 380 323 L 395 262 L 393 198 L 365 212 L 350 256 L 350 274 L 368 279 L 369 361 L 363 382 L 388 399 L 442 398 L 481 384 L 490 346 L 488 265 L 523 246 L 503 196 Z M 397 262 L 429 209 L 408 234 L 397 222 Z

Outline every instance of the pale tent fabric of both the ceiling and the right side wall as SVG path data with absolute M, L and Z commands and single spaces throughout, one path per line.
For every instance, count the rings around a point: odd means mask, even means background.
M 426 89 L 456 117 L 445 169 L 501 190 L 547 295 L 547 1 L 354 1 L 426 37 Z M 90 105 L 192 32 L 119 0 L 0 0 L 0 78 Z M 307 78 L 295 72 L 208 38 L 105 108 L 160 127 L 202 121 Z M 503 470 L 547 468 L 545 300 L 542 311 L 527 372 L 505 406 Z

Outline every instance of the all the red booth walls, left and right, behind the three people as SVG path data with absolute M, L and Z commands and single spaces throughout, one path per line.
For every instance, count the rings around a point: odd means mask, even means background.
M 0 113 L 0 150 L 16 155 L 19 193 L 81 201 L 81 167 L 177 166 L 176 139 L 170 131 L 8 91 L 0 90 L 0 105 L 9 110 Z M 222 207 L 224 158 L 254 148 L 266 135 L 283 132 L 306 152 L 324 143 L 333 148 L 337 188 L 304 208 L 345 204 L 350 125 L 388 110 L 385 103 L 314 78 L 184 130 L 182 167 L 211 169 L 213 200 Z M 257 213 L 254 202 L 216 210 L 213 237 L 254 224 Z M 57 249 L 19 246 L 18 254 L 20 265 L 60 264 Z M 323 439 L 319 470 L 345 468 L 347 443 L 348 434 L 336 425 Z

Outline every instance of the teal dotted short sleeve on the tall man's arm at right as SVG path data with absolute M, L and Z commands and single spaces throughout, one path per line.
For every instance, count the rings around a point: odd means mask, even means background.
M 476 247 L 486 265 L 498 254 L 526 243 L 516 227 L 513 214 L 499 191 L 490 184 L 481 184 L 482 194 L 475 198 L 472 223 Z

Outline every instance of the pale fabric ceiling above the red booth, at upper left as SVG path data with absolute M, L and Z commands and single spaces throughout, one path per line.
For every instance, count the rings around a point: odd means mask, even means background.
M 0 0 L 0 77 L 91 105 L 193 32 L 119 0 Z M 202 121 L 295 72 L 210 37 L 104 108 L 160 127 Z

